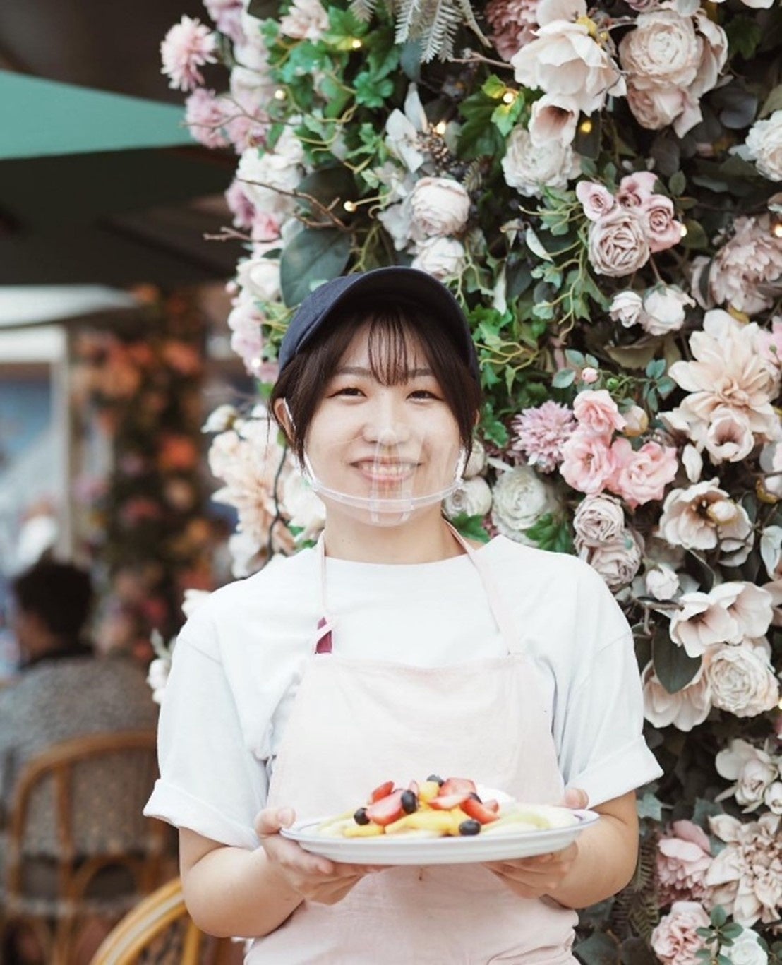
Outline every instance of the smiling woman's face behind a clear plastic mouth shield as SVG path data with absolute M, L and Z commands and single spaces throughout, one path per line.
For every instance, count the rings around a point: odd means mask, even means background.
M 453 482 L 457 422 L 415 337 L 407 357 L 406 380 L 383 385 L 372 374 L 368 325 L 357 330 L 305 439 L 310 471 L 321 486 L 382 507 L 384 500 L 415 500 Z M 328 494 L 320 494 L 328 504 Z

